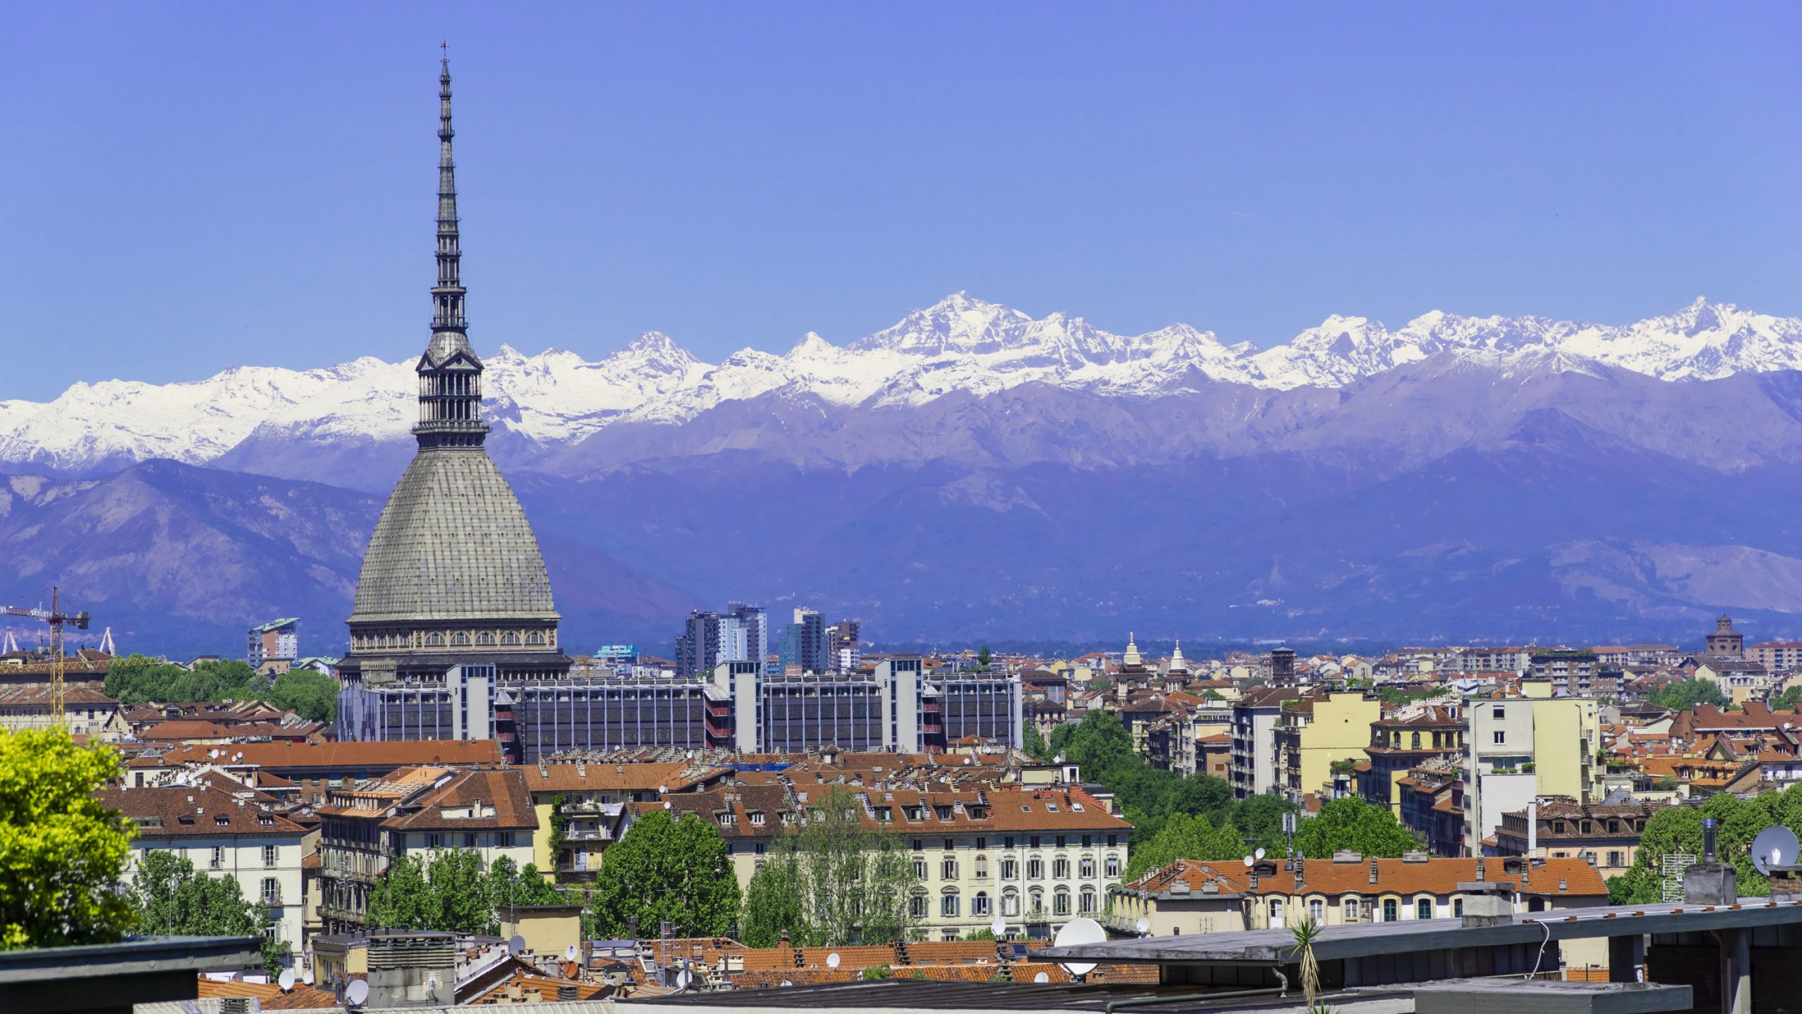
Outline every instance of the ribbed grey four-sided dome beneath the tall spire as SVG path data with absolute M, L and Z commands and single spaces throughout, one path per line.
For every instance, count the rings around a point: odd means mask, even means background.
M 557 619 L 539 539 L 481 447 L 420 451 L 357 577 L 350 622 Z

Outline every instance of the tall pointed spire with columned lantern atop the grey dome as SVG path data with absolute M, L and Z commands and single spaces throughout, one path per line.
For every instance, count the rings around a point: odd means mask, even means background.
M 463 318 L 463 245 L 456 217 L 456 159 L 450 153 L 450 58 L 438 74 L 438 281 L 432 283 L 432 341 L 416 368 L 420 447 L 479 447 L 488 435 L 481 420 L 481 359 L 469 345 Z

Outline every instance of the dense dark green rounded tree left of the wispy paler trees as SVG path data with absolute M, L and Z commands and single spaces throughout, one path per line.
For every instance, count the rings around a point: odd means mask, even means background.
M 589 909 L 609 936 L 625 936 L 634 918 L 640 933 L 654 933 L 663 922 L 678 936 L 726 933 L 739 918 L 739 880 L 726 839 L 694 814 L 679 821 L 669 810 L 638 817 L 602 853 Z

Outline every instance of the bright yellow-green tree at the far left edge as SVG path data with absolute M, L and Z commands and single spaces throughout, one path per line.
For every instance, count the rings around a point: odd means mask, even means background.
M 110 747 L 67 729 L 0 729 L 0 951 L 108 944 L 132 926 L 115 888 L 133 828 L 94 797 L 117 774 Z

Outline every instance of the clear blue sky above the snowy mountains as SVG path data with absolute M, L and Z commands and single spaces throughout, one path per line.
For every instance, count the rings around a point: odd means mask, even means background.
M 441 38 L 478 348 L 1802 314 L 1795 5 L 0 14 L 0 397 L 416 354 Z

